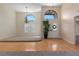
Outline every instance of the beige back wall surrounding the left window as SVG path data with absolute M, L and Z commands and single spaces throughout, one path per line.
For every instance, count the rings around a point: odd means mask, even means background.
M 26 15 L 33 15 L 36 17 L 36 34 L 41 33 L 41 12 L 17 12 L 16 13 L 16 20 L 17 20 L 17 34 L 23 34 L 25 33 L 24 25 L 25 25 L 25 16 Z M 40 23 L 40 24 L 39 24 Z M 28 23 L 27 23 L 28 24 Z M 38 25 L 39 24 L 39 25 Z

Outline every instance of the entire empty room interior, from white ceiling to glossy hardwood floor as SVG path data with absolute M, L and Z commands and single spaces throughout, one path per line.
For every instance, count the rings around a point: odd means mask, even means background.
M 0 51 L 79 51 L 79 4 L 0 3 Z

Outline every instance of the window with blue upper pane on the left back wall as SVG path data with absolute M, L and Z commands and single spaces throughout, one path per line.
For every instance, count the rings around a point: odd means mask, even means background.
M 36 32 L 36 18 L 33 15 L 27 15 L 25 17 L 24 31 L 28 33 Z

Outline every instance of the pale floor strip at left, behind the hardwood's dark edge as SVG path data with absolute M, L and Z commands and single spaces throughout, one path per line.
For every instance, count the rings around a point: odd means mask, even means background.
M 39 41 L 41 40 L 40 35 L 26 36 L 26 35 L 10 35 L 1 38 L 0 41 Z

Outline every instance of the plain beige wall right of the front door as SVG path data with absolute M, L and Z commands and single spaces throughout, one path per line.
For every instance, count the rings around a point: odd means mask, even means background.
M 63 4 L 61 10 L 62 37 L 64 40 L 75 44 L 75 20 L 79 15 L 79 4 Z

